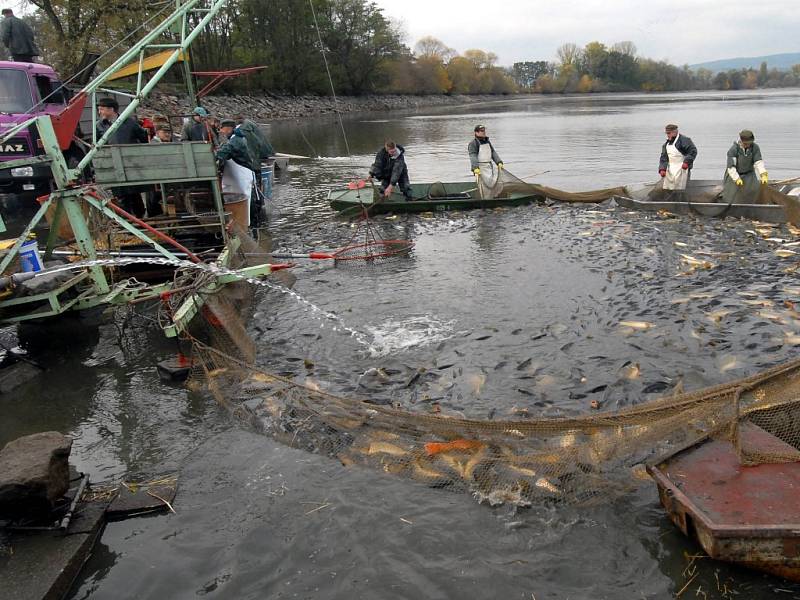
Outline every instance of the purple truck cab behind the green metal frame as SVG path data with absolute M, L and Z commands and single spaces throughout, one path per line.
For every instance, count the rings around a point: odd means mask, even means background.
M 31 117 L 58 114 L 68 102 L 69 91 L 52 67 L 0 61 L 0 135 Z M 15 169 L 2 167 L 5 161 L 43 153 L 35 127 L 29 127 L 0 144 L 0 194 L 38 195 L 50 191 L 48 165 Z

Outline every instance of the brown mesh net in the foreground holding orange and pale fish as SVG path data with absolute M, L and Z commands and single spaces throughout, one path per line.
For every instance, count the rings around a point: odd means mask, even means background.
M 743 464 L 800 460 L 800 360 L 617 412 L 493 421 L 330 394 L 199 340 L 194 358 L 192 385 L 260 432 L 493 506 L 606 502 L 649 480 L 647 464 L 707 437 L 728 440 Z M 777 443 L 748 446 L 744 422 Z

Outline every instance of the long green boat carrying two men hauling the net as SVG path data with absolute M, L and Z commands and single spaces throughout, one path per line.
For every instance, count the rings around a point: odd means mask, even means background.
M 545 199 L 540 194 L 530 192 L 511 192 L 502 194 L 498 198 L 483 198 L 474 181 L 412 183 L 411 197 L 413 200 L 408 201 L 399 189 L 395 189 L 391 196 L 382 198 L 378 187 L 369 184 L 356 189 L 336 189 L 328 192 L 328 201 L 334 210 L 353 209 L 353 211 L 357 211 L 363 207 L 370 214 L 524 206 Z

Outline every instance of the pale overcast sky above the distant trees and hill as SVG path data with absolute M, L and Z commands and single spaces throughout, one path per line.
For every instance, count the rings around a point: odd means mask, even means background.
M 632 41 L 639 55 L 682 65 L 800 52 L 800 0 L 376 0 L 413 49 L 432 35 L 498 64 L 553 60 L 565 42 Z

